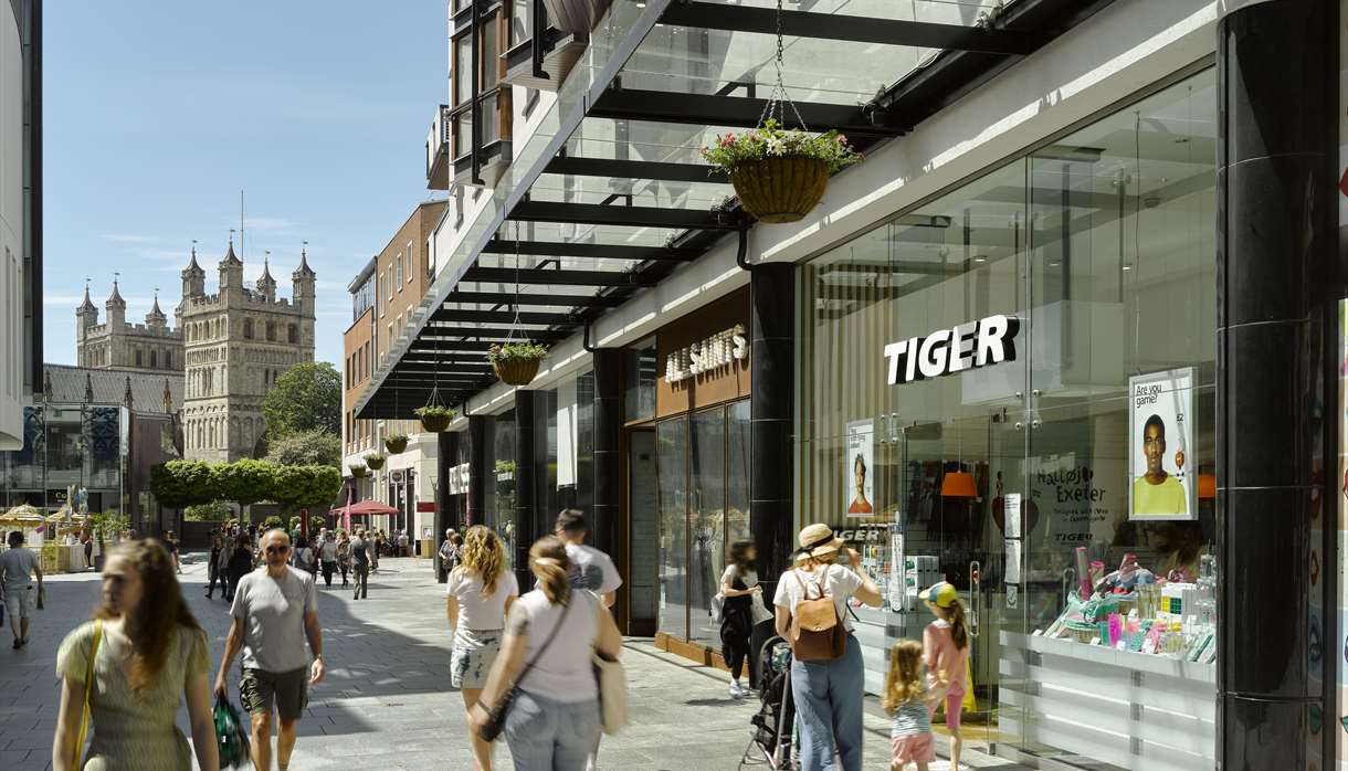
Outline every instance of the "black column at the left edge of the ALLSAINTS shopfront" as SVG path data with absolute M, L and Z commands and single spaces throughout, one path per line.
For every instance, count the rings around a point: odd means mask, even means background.
M 617 518 L 621 511 L 619 438 L 623 430 L 623 350 L 594 352 L 594 504 L 589 515 L 590 543 L 621 566 Z M 620 567 L 621 569 L 621 567 Z

